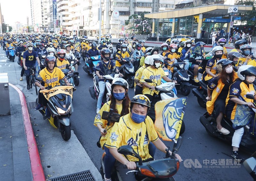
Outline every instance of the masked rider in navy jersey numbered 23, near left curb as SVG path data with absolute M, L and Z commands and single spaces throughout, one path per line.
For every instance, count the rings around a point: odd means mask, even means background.
M 30 89 L 30 85 L 29 85 L 30 69 L 28 69 L 28 67 L 30 68 L 35 67 L 36 61 L 40 66 L 40 61 L 36 51 L 33 50 L 33 44 L 29 43 L 27 47 L 28 47 L 28 50 L 23 54 L 23 67 L 25 69 L 25 74 L 26 74 L 27 89 L 29 90 Z

